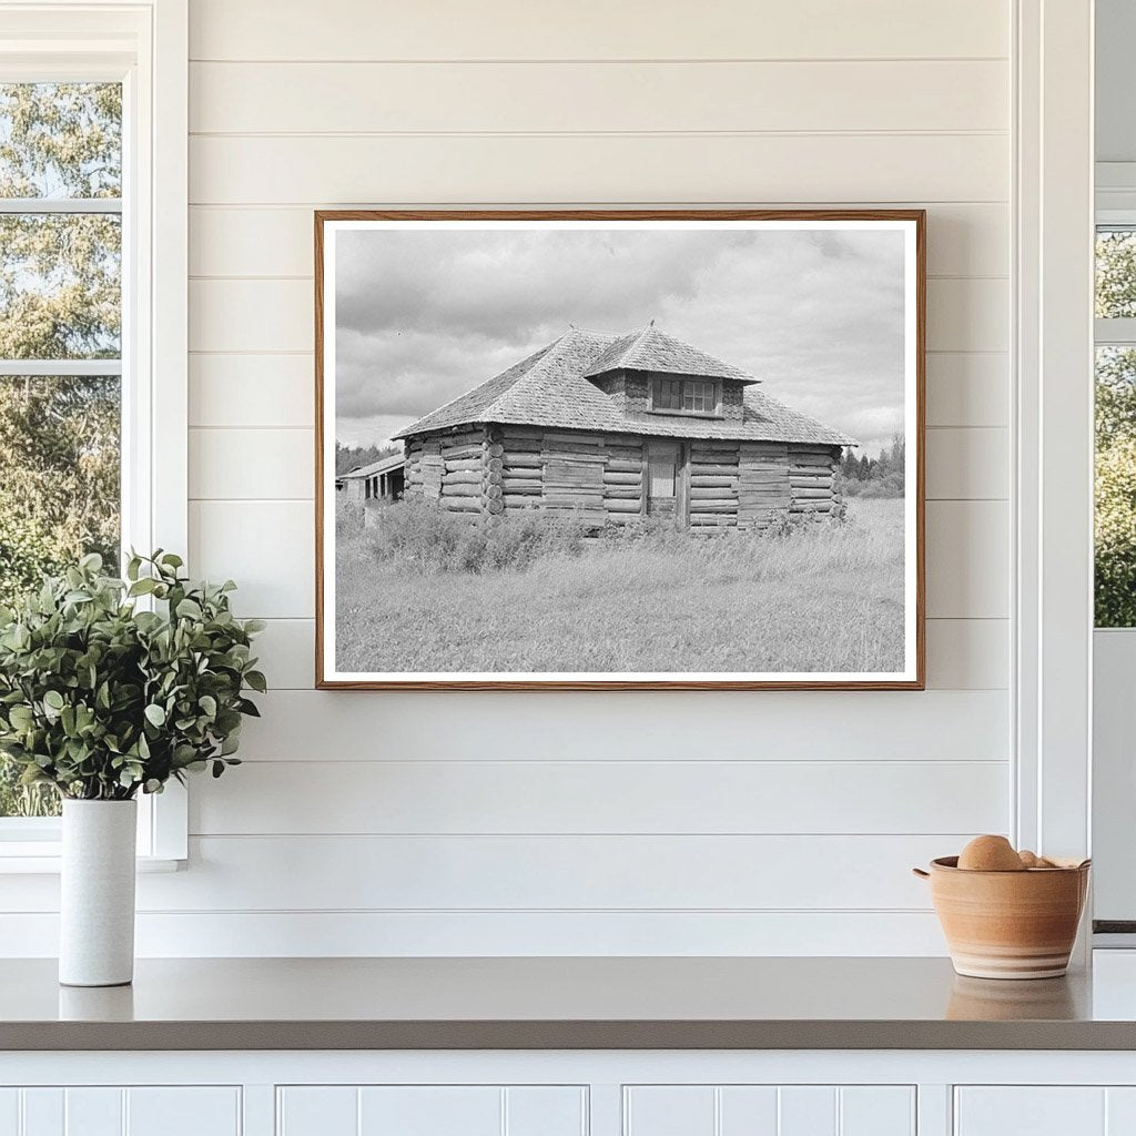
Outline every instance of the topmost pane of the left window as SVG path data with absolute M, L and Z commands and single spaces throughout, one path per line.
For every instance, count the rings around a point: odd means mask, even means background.
M 0 198 L 117 198 L 118 83 L 0 83 Z

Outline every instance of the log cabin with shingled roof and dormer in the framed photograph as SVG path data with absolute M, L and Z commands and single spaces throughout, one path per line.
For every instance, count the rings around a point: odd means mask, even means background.
M 662 517 L 692 529 L 841 516 L 855 443 L 667 335 L 571 327 L 395 435 L 406 495 L 469 516 L 543 509 L 588 526 Z

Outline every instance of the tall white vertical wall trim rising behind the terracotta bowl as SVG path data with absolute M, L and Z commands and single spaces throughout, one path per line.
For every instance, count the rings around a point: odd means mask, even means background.
M 1091 851 L 1094 47 L 1092 0 L 1019 0 L 1013 828 L 1074 855 Z

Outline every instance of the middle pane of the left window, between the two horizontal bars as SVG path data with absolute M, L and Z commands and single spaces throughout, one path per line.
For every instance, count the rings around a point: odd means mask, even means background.
M 0 215 L 0 359 L 115 359 L 122 219 Z

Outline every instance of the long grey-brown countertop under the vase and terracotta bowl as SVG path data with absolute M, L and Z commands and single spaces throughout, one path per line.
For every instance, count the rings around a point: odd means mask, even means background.
M 1136 1049 L 1136 958 L 1109 953 L 1029 982 L 946 959 L 148 959 L 110 989 L 9 960 L 0 1050 Z

